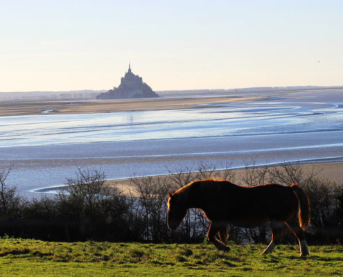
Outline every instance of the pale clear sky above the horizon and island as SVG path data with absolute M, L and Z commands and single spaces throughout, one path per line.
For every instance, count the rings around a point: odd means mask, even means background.
M 0 91 L 343 85 L 343 1 L 0 0 Z

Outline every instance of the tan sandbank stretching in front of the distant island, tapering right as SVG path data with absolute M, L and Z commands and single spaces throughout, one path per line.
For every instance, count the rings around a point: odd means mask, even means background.
M 34 114 L 97 114 L 119 111 L 193 109 L 199 105 L 262 100 L 261 97 L 150 98 L 133 100 L 42 101 L 0 103 L 0 116 Z

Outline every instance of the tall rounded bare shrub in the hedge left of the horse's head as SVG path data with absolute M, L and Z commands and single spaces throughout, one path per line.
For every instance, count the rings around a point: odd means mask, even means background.
M 113 186 L 105 185 L 102 170 L 77 168 L 76 177 L 67 178 L 56 196 L 58 215 L 67 220 L 67 237 L 71 232 L 79 239 L 125 240 L 128 204 Z M 129 236 L 129 235 L 128 235 Z

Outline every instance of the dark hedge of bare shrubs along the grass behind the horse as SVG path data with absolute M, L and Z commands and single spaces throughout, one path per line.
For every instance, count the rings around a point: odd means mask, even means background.
M 196 172 L 196 173 L 194 173 Z M 281 167 L 246 166 L 245 175 L 236 180 L 234 171 L 216 171 L 200 163 L 197 168 L 180 168 L 166 177 L 133 178 L 131 193 L 104 184 L 101 170 L 78 168 L 67 179 L 64 189 L 54 197 L 25 199 L 6 184 L 10 169 L 0 172 L 0 235 L 54 241 L 112 242 L 201 242 L 209 222 L 202 211 L 191 209 L 177 231 L 166 226 L 166 200 L 173 192 L 194 179 L 229 179 L 236 184 L 255 186 L 270 182 L 290 186 L 300 184 L 310 197 L 311 223 L 306 231 L 310 244 L 343 242 L 343 186 L 319 179 L 316 172 L 306 174 L 299 165 Z M 254 229 L 229 226 L 230 239 L 238 244 L 270 241 L 270 226 Z M 283 242 L 295 242 L 285 235 Z

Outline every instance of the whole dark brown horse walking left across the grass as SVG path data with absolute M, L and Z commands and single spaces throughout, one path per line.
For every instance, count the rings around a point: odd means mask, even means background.
M 263 254 L 272 253 L 288 226 L 299 240 L 300 256 L 309 255 L 304 230 L 310 223 L 310 202 L 297 184 L 247 187 L 226 180 L 198 180 L 169 193 L 167 207 L 167 224 L 172 230 L 181 224 L 188 208 L 200 208 L 210 221 L 207 238 L 220 250 L 229 250 L 229 224 L 254 227 L 270 222 L 272 241 Z M 216 238 L 217 233 L 220 240 Z

